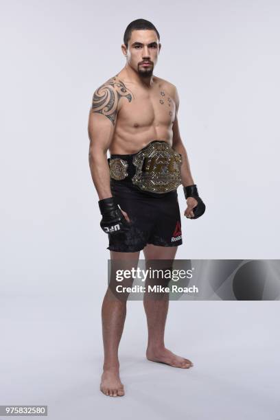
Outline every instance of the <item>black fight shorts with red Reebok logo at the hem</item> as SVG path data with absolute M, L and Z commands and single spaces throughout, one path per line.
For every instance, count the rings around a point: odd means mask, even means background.
M 163 194 L 141 191 L 131 180 L 110 178 L 110 189 L 121 210 L 128 213 L 130 229 L 109 233 L 107 249 L 122 253 L 143 250 L 146 244 L 182 244 L 180 209 L 176 189 Z

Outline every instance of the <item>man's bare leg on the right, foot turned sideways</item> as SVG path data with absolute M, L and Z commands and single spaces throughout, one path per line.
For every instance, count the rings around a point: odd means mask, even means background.
M 155 246 L 148 244 L 143 249 L 145 260 L 150 259 L 167 259 L 173 261 L 177 246 Z M 189 368 L 193 366 L 188 359 L 172 353 L 165 348 L 164 330 L 167 318 L 169 295 L 166 294 L 162 299 L 152 299 L 148 294 L 144 295 L 145 314 L 148 323 L 148 347 L 146 356 L 148 360 L 153 362 L 163 362 L 174 367 Z

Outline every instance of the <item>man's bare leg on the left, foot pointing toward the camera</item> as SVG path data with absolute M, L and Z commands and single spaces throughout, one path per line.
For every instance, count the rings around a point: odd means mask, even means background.
M 115 264 L 124 264 L 129 270 L 132 266 L 137 268 L 139 252 L 136 253 L 118 253 L 110 251 L 111 271 L 114 276 Z M 131 260 L 133 260 L 131 262 Z M 121 261 L 121 262 L 118 262 Z M 126 263 L 126 261 L 128 261 Z M 112 277 L 112 276 L 111 276 Z M 108 287 L 102 304 L 102 334 L 104 345 L 104 365 L 101 378 L 100 390 L 105 395 L 117 397 L 124 395 L 124 385 L 119 378 L 119 358 L 118 349 L 121 340 L 121 334 L 124 329 L 126 319 L 126 299 L 121 300 L 113 293 L 114 280 Z

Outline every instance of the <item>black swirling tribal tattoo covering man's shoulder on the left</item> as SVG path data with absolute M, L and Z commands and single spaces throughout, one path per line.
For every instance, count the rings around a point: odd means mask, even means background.
M 113 126 L 117 117 L 117 106 L 121 97 L 126 97 L 128 102 L 132 101 L 133 94 L 126 88 L 123 82 L 117 80 L 116 76 L 96 89 L 93 94 L 93 113 L 100 113 L 110 119 Z

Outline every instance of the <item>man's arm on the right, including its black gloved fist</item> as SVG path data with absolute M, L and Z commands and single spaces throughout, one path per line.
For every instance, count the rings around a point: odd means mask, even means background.
M 179 108 L 179 96 L 177 89 L 174 91 L 174 100 L 175 100 L 175 120 L 173 124 L 173 142 L 172 148 L 176 152 L 180 153 L 182 156 L 182 165 L 181 165 L 181 178 L 182 185 L 187 200 L 187 209 L 185 210 L 185 216 L 187 218 L 197 219 L 203 213 L 205 213 L 205 204 L 202 202 L 201 198 L 198 196 L 197 186 L 194 184 L 194 179 L 191 175 L 191 168 L 189 165 L 189 159 L 187 156 L 187 150 L 183 144 L 182 139 L 180 138 L 180 130 L 178 125 L 178 108 Z

